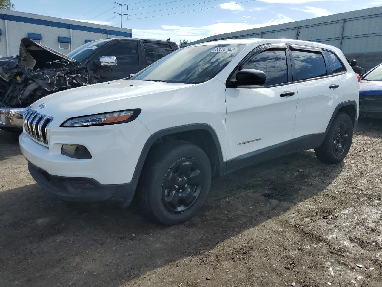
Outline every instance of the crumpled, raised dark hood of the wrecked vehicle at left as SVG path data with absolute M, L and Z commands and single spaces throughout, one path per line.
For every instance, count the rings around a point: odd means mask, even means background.
M 44 68 L 47 62 L 54 62 L 57 60 L 75 62 L 71 57 L 33 42 L 29 38 L 21 39 L 19 55 L 22 59 L 20 60 L 20 64 L 31 69 L 34 68 L 35 70 Z

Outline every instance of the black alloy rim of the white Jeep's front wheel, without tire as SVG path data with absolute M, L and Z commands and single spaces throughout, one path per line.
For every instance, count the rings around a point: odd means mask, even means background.
M 197 160 L 183 158 L 177 161 L 163 180 L 163 204 L 171 212 L 185 212 L 199 197 L 203 181 L 203 170 Z

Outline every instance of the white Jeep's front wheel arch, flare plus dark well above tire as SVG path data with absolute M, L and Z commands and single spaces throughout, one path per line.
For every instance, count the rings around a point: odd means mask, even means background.
M 193 135 L 199 132 L 201 135 L 206 135 L 207 137 L 199 137 L 199 139 Z M 138 163 L 136 165 L 133 179 L 139 178 L 141 175 L 142 168 L 146 162 L 147 155 L 150 149 L 153 147 L 154 143 L 159 139 L 166 136 L 176 135 L 177 138 L 187 140 L 197 145 L 204 145 L 201 148 L 207 153 L 210 158 L 212 174 L 219 175 L 225 173 L 225 162 L 223 161 L 222 147 L 219 142 L 219 138 L 215 130 L 209 124 L 189 124 L 184 126 L 170 127 L 167 129 L 159 130 L 152 134 L 149 139 L 147 139 L 144 144 L 141 155 L 139 155 Z M 210 150 L 206 150 L 210 149 Z M 212 157 L 212 158 L 211 158 Z

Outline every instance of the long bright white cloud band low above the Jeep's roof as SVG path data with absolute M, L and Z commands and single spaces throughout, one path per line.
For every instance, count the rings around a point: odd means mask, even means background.
M 206 38 L 212 35 L 230 33 L 235 31 L 259 28 L 264 26 L 283 24 L 294 21 L 293 19 L 278 14 L 277 18 L 264 21 L 262 23 L 251 24 L 247 21 L 244 23 L 215 23 L 207 26 L 193 27 L 193 26 L 177 26 L 177 25 L 162 25 L 162 29 L 133 29 L 134 38 L 146 39 L 168 39 L 178 42 L 180 39 L 196 41 L 198 39 Z

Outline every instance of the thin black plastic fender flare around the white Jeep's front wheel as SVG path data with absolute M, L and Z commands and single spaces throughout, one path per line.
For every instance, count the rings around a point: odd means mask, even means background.
M 146 143 L 143 146 L 143 149 L 141 151 L 141 155 L 139 155 L 138 163 L 135 167 L 135 171 L 133 174 L 133 179 L 139 178 L 141 175 L 141 171 L 144 165 L 144 162 L 146 161 L 147 154 L 149 153 L 149 150 L 152 146 L 152 144 L 159 139 L 160 137 L 163 137 L 165 135 L 175 134 L 177 132 L 186 132 L 191 130 L 207 130 L 209 134 L 212 136 L 212 139 L 214 140 L 217 155 L 219 158 L 219 166 L 220 166 L 220 174 L 225 173 L 226 164 L 225 161 L 223 161 L 223 153 L 222 153 L 222 147 L 219 142 L 219 138 L 217 137 L 217 134 L 213 127 L 211 127 L 209 124 L 188 124 L 183 126 L 177 126 L 177 127 L 170 127 L 167 129 L 159 130 L 152 134 L 149 139 L 147 139 Z

